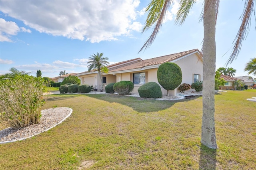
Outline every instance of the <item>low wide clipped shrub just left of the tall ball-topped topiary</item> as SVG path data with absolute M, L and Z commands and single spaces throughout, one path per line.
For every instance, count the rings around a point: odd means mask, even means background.
M 148 98 L 161 98 L 162 91 L 160 85 L 155 82 L 148 82 L 138 88 L 138 92 L 140 97 L 148 97 Z

